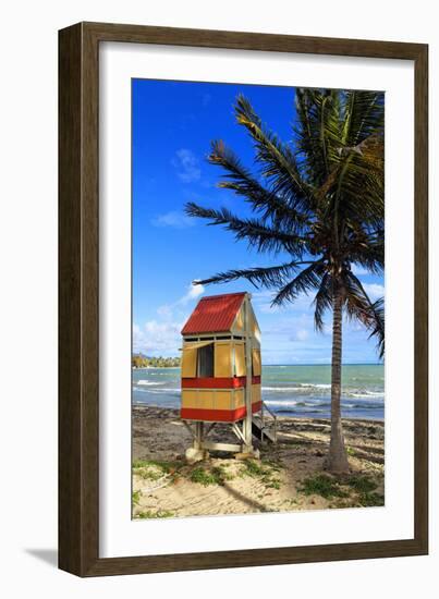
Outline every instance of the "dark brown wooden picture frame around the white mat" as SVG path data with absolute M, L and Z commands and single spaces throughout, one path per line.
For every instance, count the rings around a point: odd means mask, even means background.
M 99 558 L 99 44 L 124 41 L 414 61 L 414 537 Z M 78 576 L 420 555 L 428 552 L 428 47 L 419 44 L 80 23 L 59 34 L 59 566 Z

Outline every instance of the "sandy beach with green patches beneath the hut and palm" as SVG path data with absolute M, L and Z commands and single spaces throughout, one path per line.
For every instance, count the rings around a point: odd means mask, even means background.
M 225 453 L 187 465 L 191 435 L 179 411 L 133 407 L 133 516 L 178 517 L 383 505 L 385 428 L 344 419 L 351 472 L 325 473 L 329 420 L 278 418 L 278 443 L 258 444 L 260 460 Z M 235 442 L 217 425 L 209 439 Z

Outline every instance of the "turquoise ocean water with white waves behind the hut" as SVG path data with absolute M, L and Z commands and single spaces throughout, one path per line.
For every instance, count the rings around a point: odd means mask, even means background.
M 282 416 L 330 416 L 330 366 L 264 366 L 263 400 Z M 180 368 L 133 370 L 133 403 L 180 407 Z M 343 365 L 342 416 L 383 419 L 382 365 Z

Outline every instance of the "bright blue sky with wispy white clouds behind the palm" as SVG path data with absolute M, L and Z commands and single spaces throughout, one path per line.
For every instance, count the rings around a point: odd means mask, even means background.
M 179 355 L 180 330 L 202 295 L 249 291 L 265 364 L 329 364 L 331 317 L 324 334 L 314 331 L 313 297 L 273 309 L 270 292 L 245 281 L 191 285 L 230 268 L 282 259 L 249 250 L 230 232 L 184 215 L 190 200 L 249 213 L 242 198 L 216 186 L 221 170 L 206 160 L 210 142 L 223 139 L 252 167 L 251 140 L 233 115 L 240 93 L 263 122 L 283 140 L 291 139 L 292 87 L 133 80 L 133 350 Z M 381 277 L 356 273 L 373 298 L 383 294 Z M 345 323 L 343 362 L 377 362 L 375 343 L 359 325 Z

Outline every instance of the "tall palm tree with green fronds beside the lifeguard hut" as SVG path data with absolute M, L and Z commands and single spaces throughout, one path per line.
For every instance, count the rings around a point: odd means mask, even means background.
M 272 289 L 273 306 L 315 293 L 318 331 L 325 313 L 332 310 L 326 467 L 340 473 L 349 469 L 340 412 L 343 314 L 369 331 L 383 356 L 383 300 L 370 300 L 353 268 L 383 271 L 383 96 L 297 88 L 295 108 L 293 138 L 286 144 L 263 125 L 245 97 L 237 97 L 235 118 L 253 140 L 255 173 L 222 140 L 211 144 L 208 160 L 224 171 L 219 187 L 243 197 L 251 218 L 186 205 L 187 215 L 223 225 L 236 240 L 277 257 L 277 264 L 229 270 L 194 284 L 246 279 Z

